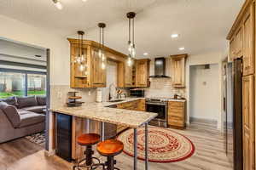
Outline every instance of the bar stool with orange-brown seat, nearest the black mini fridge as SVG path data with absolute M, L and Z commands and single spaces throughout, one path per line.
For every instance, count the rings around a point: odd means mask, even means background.
M 84 133 L 79 136 L 78 144 L 82 146 L 86 146 L 86 150 L 84 150 L 85 158 L 81 161 L 78 161 L 77 165 L 73 166 L 73 170 L 80 169 L 79 167 L 90 167 L 90 169 L 96 169 L 97 165 L 100 163 L 100 160 L 96 157 L 93 157 L 94 151 L 92 150 L 92 145 L 99 143 L 101 140 L 101 136 L 96 133 Z M 98 161 L 97 164 L 94 163 L 93 160 Z M 82 163 L 85 161 L 85 163 Z

